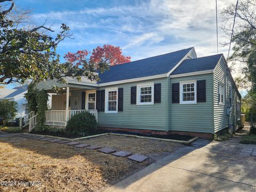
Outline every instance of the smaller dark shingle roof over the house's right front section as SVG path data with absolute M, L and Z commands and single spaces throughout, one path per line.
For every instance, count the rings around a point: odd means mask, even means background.
M 171 75 L 214 69 L 221 56 L 222 54 L 217 54 L 195 59 L 185 59 L 179 67 L 171 73 Z

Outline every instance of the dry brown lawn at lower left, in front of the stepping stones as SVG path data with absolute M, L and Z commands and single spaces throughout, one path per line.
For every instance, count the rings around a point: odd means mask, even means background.
M 0 186 L 0 191 L 98 191 L 149 164 L 22 138 L 0 138 L 0 151 L 0 181 L 42 183 L 29 187 Z

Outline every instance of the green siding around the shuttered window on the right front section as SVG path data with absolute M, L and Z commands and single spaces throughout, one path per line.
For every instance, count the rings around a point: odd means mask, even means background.
M 172 83 L 206 80 L 206 102 L 172 103 Z M 213 74 L 175 77 L 169 80 L 169 131 L 213 133 Z

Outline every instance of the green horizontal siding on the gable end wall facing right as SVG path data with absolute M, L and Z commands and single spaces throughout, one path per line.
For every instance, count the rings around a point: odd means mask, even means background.
M 238 92 L 225 62 L 226 61 L 222 58 L 214 71 L 214 132 L 227 128 L 229 123 L 232 124 L 235 129 L 237 129 L 240 124 L 240 121 L 237 121 L 236 117 L 236 102 L 239 100 Z M 219 84 L 225 86 L 224 105 L 219 105 Z M 227 115 L 230 87 L 232 87 L 233 99 L 230 115 Z

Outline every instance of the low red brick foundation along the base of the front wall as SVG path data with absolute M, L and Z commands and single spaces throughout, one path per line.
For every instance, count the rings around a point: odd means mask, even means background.
M 128 128 L 116 128 L 116 127 L 99 127 L 101 130 L 108 131 L 125 131 L 125 132 L 137 132 L 141 134 L 159 134 L 159 135 L 167 135 L 167 134 L 182 134 L 182 135 L 191 135 L 194 137 L 200 137 L 204 139 L 213 139 L 212 133 L 199 133 L 199 132 L 188 132 L 188 131 L 156 131 L 156 130 L 140 130 L 140 129 L 128 129 Z

